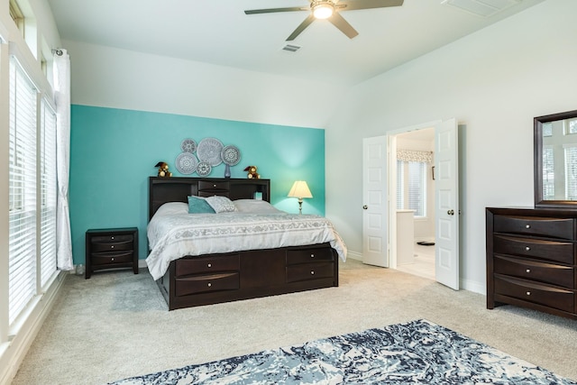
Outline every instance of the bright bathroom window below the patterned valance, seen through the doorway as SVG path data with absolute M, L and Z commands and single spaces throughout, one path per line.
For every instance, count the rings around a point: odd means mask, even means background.
M 416 217 L 426 216 L 426 164 L 397 160 L 397 208 L 415 210 Z

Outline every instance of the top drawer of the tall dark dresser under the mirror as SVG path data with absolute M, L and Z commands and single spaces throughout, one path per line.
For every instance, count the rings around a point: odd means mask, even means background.
M 495 215 L 496 233 L 527 234 L 572 240 L 575 235 L 572 218 Z

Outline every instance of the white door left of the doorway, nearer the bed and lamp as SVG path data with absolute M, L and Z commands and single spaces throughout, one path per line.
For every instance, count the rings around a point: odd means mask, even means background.
M 387 136 L 362 140 L 362 262 L 389 267 Z

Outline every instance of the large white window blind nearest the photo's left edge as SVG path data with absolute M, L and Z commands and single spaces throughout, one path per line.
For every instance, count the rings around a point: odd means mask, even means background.
M 36 89 L 10 60 L 8 322 L 36 294 Z

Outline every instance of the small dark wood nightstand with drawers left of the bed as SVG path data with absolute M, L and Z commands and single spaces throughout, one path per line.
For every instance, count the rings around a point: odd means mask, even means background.
M 86 275 L 95 270 L 132 268 L 138 274 L 138 228 L 89 229 Z

